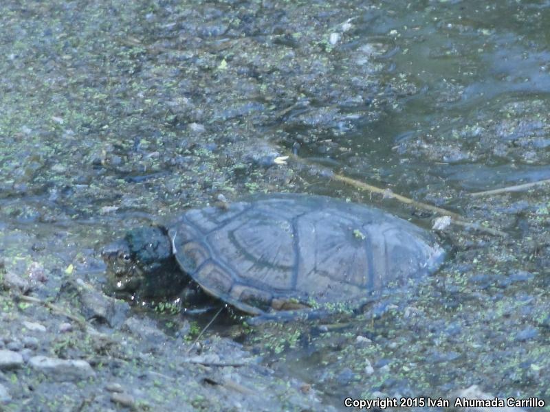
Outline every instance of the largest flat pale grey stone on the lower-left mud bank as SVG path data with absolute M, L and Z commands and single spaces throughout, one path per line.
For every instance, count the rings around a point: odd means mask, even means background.
M 86 361 L 48 358 L 47 356 L 33 356 L 29 365 L 36 371 L 54 378 L 59 382 L 66 380 L 82 380 L 95 376 L 94 369 Z

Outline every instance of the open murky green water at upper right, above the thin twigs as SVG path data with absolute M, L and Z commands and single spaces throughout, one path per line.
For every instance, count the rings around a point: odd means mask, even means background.
M 550 91 L 547 4 L 390 1 L 367 9 L 353 20 L 358 38 L 348 45 L 347 57 L 364 58 L 361 47 L 376 45 L 380 53 L 372 58 L 381 64 L 381 87 L 395 87 L 395 79 L 402 79 L 406 90 L 395 91 L 396 101 L 384 107 L 380 120 L 338 137 L 345 150 L 332 152 L 331 159 L 353 176 L 380 179 L 404 194 L 426 185 L 474 191 L 550 177 L 544 156 L 548 126 L 540 120 L 547 116 Z M 491 150 L 494 141 L 481 141 L 483 135 L 514 118 L 507 113 L 514 102 L 540 106 L 532 124 L 515 137 L 540 137 L 542 157 L 469 156 L 468 149 Z M 515 120 L 521 122 L 520 116 Z M 511 144 L 514 128 L 499 137 Z M 425 149 L 433 161 L 399 150 L 399 144 L 417 139 L 436 146 Z

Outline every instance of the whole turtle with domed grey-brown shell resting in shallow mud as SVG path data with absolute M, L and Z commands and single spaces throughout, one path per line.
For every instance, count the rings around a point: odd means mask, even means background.
M 176 296 L 192 280 L 252 315 L 355 304 L 433 273 L 444 254 L 407 220 L 311 194 L 189 209 L 102 251 L 116 293 Z

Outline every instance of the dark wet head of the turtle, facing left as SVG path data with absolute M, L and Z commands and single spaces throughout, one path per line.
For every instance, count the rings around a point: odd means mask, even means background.
M 107 264 L 105 292 L 122 298 L 169 297 L 188 283 L 164 227 L 132 229 L 101 251 Z

